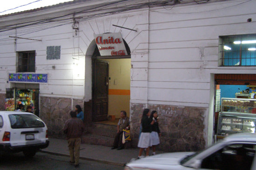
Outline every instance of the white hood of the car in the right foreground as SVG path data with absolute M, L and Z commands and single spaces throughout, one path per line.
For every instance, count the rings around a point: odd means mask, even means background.
M 142 164 L 162 164 L 162 165 L 176 165 L 180 164 L 182 158 L 192 155 L 195 152 L 173 152 L 163 153 L 155 156 L 144 157 L 137 159 L 128 164 L 128 166 L 136 166 Z

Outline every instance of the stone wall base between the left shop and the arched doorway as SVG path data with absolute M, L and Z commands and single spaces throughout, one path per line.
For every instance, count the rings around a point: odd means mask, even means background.
M 46 123 L 50 137 L 65 139 L 62 129 L 70 118 L 71 103 L 70 98 L 40 97 L 40 118 Z M 73 105 L 76 104 L 83 107 L 82 100 L 73 100 Z

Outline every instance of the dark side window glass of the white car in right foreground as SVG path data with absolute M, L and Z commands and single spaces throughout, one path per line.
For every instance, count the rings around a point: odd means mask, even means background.
M 228 145 L 202 160 L 202 169 L 250 170 L 255 155 L 253 144 Z

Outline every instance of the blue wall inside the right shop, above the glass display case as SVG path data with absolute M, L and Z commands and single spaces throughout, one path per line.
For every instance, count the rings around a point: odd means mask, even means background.
M 235 93 L 238 93 L 238 88 L 240 90 L 245 90 L 248 87 L 246 85 L 220 85 L 221 89 L 221 98 L 228 97 L 228 98 L 235 98 Z

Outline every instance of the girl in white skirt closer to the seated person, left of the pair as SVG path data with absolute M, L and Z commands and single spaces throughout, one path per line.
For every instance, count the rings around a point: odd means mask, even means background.
M 141 136 L 138 143 L 138 147 L 140 148 L 138 159 L 141 158 L 142 151 L 145 148 L 146 148 L 146 157 L 149 154 L 149 146 L 151 146 L 150 145 L 150 132 L 152 131 L 151 126 L 154 124 L 154 121 L 149 117 L 150 117 L 149 109 L 145 108 L 141 118 L 142 130 L 141 130 Z

